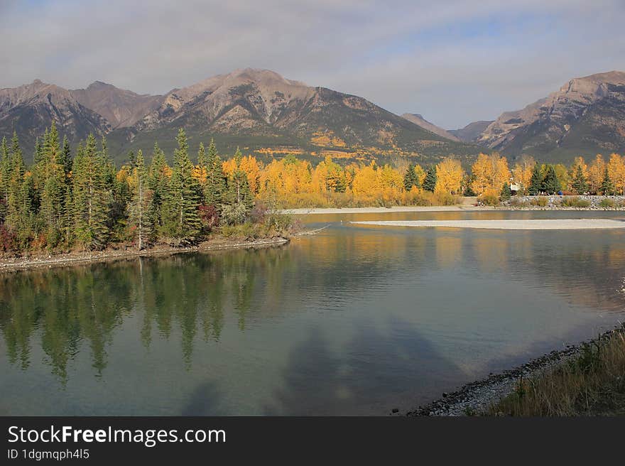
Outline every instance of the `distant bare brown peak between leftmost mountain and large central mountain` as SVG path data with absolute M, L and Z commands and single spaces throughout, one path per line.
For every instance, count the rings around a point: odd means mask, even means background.
M 101 81 L 93 82 L 87 89 L 71 90 L 70 94 L 83 107 L 102 115 L 114 129 L 134 125 L 164 99 L 161 95 L 135 94 Z

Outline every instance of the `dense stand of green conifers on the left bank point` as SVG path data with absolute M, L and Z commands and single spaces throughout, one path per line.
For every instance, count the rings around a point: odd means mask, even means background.
M 230 173 L 211 141 L 190 161 L 185 131 L 176 137 L 173 166 L 154 144 L 150 163 L 142 151 L 116 170 L 106 139 L 93 135 L 72 156 L 53 123 L 26 166 L 18 137 L 0 146 L 0 251 L 104 249 L 134 242 L 175 246 L 200 241 L 217 226 L 248 220 L 254 207 L 237 151 Z

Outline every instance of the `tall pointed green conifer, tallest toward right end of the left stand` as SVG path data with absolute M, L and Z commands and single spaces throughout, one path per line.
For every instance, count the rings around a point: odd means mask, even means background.
M 189 145 L 183 129 L 176 136 L 178 148 L 174 152 L 174 163 L 167 197 L 163 202 L 163 234 L 170 242 L 179 246 L 199 239 L 202 222 L 198 207 L 197 180 L 192 176 L 193 165 L 189 159 Z

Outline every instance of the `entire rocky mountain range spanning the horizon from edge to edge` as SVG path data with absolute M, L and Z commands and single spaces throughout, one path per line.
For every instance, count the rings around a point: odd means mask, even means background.
M 479 151 L 550 161 L 625 148 L 625 73 L 570 80 L 557 92 L 494 121 L 445 130 L 420 114 L 398 116 L 355 95 L 310 87 L 246 68 L 165 95 L 136 94 L 104 82 L 67 90 L 35 80 L 0 90 L 0 136 L 20 136 L 25 153 L 52 121 L 71 141 L 107 136 L 119 160 L 129 150 L 165 151 L 185 128 L 191 146 L 214 137 L 223 153 L 240 146 L 261 157 L 295 153 L 344 160 L 393 156 L 430 163 Z

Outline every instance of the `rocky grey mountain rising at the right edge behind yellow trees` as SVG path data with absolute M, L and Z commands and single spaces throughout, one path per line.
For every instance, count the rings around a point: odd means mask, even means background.
M 551 161 L 625 150 L 625 72 L 578 77 L 489 124 L 478 143 Z

